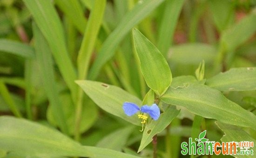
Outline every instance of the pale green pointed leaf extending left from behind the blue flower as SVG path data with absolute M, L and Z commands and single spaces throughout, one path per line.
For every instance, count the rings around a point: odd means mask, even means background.
M 75 82 L 94 101 L 94 103 L 101 107 L 101 109 L 135 125 L 140 125 L 140 120 L 137 115 L 129 117 L 124 113 L 122 108 L 124 102 L 132 102 L 141 106 L 140 99 L 119 87 L 110 86 L 101 82 L 89 80 L 77 80 Z

